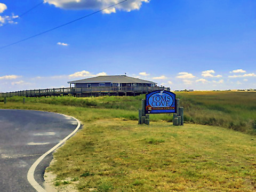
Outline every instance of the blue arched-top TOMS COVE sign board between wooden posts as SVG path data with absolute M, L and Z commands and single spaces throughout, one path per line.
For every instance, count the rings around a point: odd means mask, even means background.
M 170 91 L 146 94 L 146 114 L 176 113 L 176 95 Z

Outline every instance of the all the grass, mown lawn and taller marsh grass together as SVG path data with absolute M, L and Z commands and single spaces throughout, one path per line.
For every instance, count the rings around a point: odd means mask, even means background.
M 47 169 L 57 174 L 54 182 L 57 187 L 68 184 L 76 185 L 79 191 L 128 192 L 255 191 L 255 136 L 232 130 L 239 124 L 244 127 L 239 131 L 253 133 L 255 116 L 245 118 L 244 115 L 255 114 L 253 97 L 246 96 L 250 105 L 244 105 L 241 112 L 235 109 L 242 105 L 242 99 L 231 105 L 230 100 L 240 98 L 236 93 L 195 92 L 177 96 L 190 123 L 179 127 L 167 122 L 171 120 L 170 115 L 150 115 L 154 122 L 149 126 L 123 121 L 136 119 L 138 111 L 117 108 L 122 105 L 115 101 L 121 102 L 122 97 L 30 98 L 25 105 L 21 98 L 11 98 L 6 105 L 0 103 L 0 108 L 52 111 L 83 122 L 83 129 L 54 154 L 57 161 Z M 216 98 L 222 104 L 218 104 Z M 71 106 L 66 99 L 77 99 L 76 105 L 79 100 L 86 100 L 84 103 L 92 100 L 97 105 Z M 129 99 L 131 101 L 126 101 L 124 106 L 139 107 L 140 97 Z M 43 103 L 56 100 L 57 103 Z M 106 108 L 104 102 L 115 107 Z M 236 115 L 243 118 L 236 119 Z M 203 120 L 218 126 L 191 124 L 204 124 Z M 231 125 L 227 127 L 230 129 L 220 127 L 225 127 L 225 123 Z

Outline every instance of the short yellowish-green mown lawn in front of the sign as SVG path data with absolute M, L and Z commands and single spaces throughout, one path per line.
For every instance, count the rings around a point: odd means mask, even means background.
M 81 191 L 253 191 L 255 147 L 254 136 L 220 127 L 100 119 L 54 154 L 51 170 L 60 185 L 78 178 Z

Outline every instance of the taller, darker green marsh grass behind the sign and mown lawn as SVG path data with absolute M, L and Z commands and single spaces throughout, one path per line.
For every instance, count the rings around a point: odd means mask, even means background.
M 185 122 L 201 125 L 226 127 L 236 131 L 255 134 L 256 130 L 256 93 L 254 92 L 176 92 L 180 106 L 185 109 Z M 136 120 L 141 99 L 137 97 L 98 97 L 98 98 L 26 98 L 28 103 L 45 103 L 58 106 L 76 106 L 89 109 L 122 109 L 124 118 Z M 8 98 L 11 102 L 22 102 L 21 97 Z M 3 98 L 0 98 L 3 101 Z M 86 110 L 86 109 L 85 109 Z M 115 110 L 112 117 L 120 117 Z M 109 115 L 107 115 L 109 116 Z M 102 117 L 104 118 L 104 117 Z M 171 115 L 151 115 L 151 121 L 172 122 Z

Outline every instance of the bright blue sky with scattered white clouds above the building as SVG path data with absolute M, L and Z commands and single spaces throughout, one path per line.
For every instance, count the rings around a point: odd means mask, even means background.
M 0 24 L 40 2 L 0 0 Z M 0 27 L 0 46 L 115 2 L 45 0 Z M 67 87 L 73 79 L 124 73 L 171 90 L 256 89 L 255 10 L 254 0 L 128 0 L 115 12 L 1 49 L 0 92 Z

